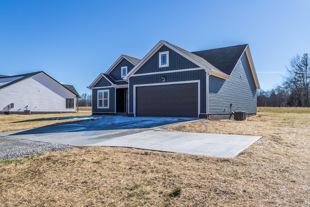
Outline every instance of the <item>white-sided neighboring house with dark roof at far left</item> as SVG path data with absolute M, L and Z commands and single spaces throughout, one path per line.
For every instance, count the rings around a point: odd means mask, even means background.
M 43 71 L 0 76 L 0 114 L 76 112 L 79 95 Z

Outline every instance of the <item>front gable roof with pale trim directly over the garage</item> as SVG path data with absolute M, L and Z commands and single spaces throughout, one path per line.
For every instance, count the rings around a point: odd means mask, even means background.
M 155 47 L 149 52 L 147 53 L 144 58 L 142 58 L 142 60 L 133 68 L 131 69 L 131 71 L 129 71 L 129 73 L 127 73 L 127 75 L 123 78 L 124 80 L 129 80 L 129 78 L 135 74 L 135 72 L 144 64 L 146 63 L 162 46 L 166 46 L 168 48 L 170 48 L 171 50 L 175 51 L 176 53 L 178 53 L 179 55 L 185 57 L 187 60 L 193 62 L 194 64 L 197 64 L 198 66 L 200 66 L 202 69 L 204 69 L 206 72 L 212 72 L 212 74 L 214 76 L 217 76 L 219 78 L 222 79 L 229 79 L 230 75 L 227 75 L 226 73 L 223 73 L 222 71 L 220 71 L 217 67 L 215 67 L 214 65 L 210 64 L 208 61 L 206 61 L 205 59 L 203 59 L 202 57 L 188 52 L 185 49 L 179 48 L 175 45 L 172 45 L 171 43 L 168 43 L 164 40 L 160 40 L 157 45 L 155 45 Z

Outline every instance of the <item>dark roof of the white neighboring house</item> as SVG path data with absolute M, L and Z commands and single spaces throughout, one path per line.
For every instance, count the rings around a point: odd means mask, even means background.
M 67 85 L 68 86 L 68 88 L 67 88 L 65 85 L 63 85 L 60 82 L 58 82 L 57 80 L 53 79 L 52 77 L 50 77 L 49 75 L 47 75 L 43 71 L 34 72 L 34 73 L 27 73 L 27 74 L 21 74 L 21 75 L 15 75 L 15 76 L 0 77 L 0 89 L 8 87 L 10 85 L 13 85 L 13 84 L 15 84 L 17 82 L 20 82 L 22 80 L 31 78 L 32 76 L 35 76 L 35 75 L 37 75 L 39 73 L 42 73 L 42 74 L 46 75 L 51 80 L 54 80 L 57 84 L 61 85 L 66 90 L 70 91 L 72 94 L 74 94 L 77 97 L 79 97 L 78 92 L 76 91 L 76 89 L 72 85 Z

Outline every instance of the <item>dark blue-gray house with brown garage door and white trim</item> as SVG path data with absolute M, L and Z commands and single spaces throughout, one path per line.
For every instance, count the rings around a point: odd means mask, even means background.
M 161 40 L 142 60 L 122 55 L 88 87 L 93 114 L 228 118 L 257 112 L 248 45 L 188 52 Z

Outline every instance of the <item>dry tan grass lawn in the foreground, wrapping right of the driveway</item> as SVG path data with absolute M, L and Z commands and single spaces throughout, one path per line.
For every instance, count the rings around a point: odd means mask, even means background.
M 263 138 L 232 159 L 83 147 L 3 162 L 0 206 L 310 206 L 310 114 L 260 112 L 169 130 Z

